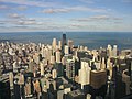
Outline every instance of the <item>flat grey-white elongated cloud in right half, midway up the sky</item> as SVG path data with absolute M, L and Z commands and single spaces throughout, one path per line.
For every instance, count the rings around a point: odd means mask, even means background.
M 110 16 L 110 15 L 95 15 L 89 18 L 72 19 L 72 21 L 87 22 L 87 21 L 108 21 L 108 20 L 123 20 L 122 18 Z

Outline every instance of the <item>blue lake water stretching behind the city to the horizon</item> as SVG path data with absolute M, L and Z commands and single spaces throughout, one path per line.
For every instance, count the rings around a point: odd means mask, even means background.
M 0 42 L 52 44 L 54 37 L 62 40 L 62 34 L 63 32 L 0 33 Z M 75 45 L 85 45 L 89 48 L 107 47 L 108 44 L 117 44 L 120 50 L 132 48 L 132 33 L 130 32 L 66 32 L 65 34 L 67 40 L 74 41 Z

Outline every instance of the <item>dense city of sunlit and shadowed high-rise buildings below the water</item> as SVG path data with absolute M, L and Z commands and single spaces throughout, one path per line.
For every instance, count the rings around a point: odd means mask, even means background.
M 0 99 L 131 99 L 132 50 L 62 40 L 0 43 Z M 122 90 L 122 91 L 120 91 Z

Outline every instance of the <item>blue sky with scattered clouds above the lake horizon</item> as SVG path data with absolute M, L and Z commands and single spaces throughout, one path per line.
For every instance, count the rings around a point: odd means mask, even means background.
M 132 32 L 132 0 L 0 0 L 0 32 Z

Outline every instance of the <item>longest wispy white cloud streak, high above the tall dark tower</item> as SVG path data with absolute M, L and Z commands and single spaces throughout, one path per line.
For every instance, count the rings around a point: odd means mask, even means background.
M 73 11 L 89 11 L 89 12 L 106 12 L 105 9 L 95 9 L 88 7 L 67 7 L 67 8 L 58 8 L 58 9 L 44 9 L 42 13 L 67 13 Z

